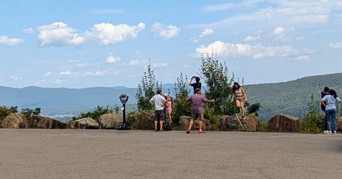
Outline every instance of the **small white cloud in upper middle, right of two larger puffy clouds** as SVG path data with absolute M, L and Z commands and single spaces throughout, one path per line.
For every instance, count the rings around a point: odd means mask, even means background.
M 160 22 L 156 22 L 152 25 L 151 31 L 155 33 L 156 37 L 168 40 L 172 37 L 177 37 L 181 29 L 177 26 L 165 25 Z

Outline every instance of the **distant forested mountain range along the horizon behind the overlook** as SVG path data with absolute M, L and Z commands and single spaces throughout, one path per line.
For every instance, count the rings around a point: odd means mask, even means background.
M 247 97 L 250 103 L 260 102 L 263 106 L 259 116 L 262 120 L 279 113 L 302 117 L 307 110 L 311 93 L 315 94 L 318 103 L 320 90 L 325 86 L 335 89 L 338 95 L 341 95 L 342 73 L 310 76 L 287 82 L 247 85 Z M 174 84 L 163 84 L 163 92 L 170 91 L 173 95 L 173 87 Z M 17 105 L 19 109 L 41 107 L 42 114 L 50 116 L 79 114 L 92 110 L 97 105 L 121 105 L 121 93 L 128 94 L 130 98 L 127 104 L 134 108 L 136 88 L 124 86 L 82 89 L 0 86 L 0 105 Z

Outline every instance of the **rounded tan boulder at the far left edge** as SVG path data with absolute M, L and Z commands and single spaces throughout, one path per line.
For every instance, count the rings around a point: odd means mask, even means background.
M 25 115 L 12 113 L 3 119 L 2 126 L 10 129 L 25 129 L 28 123 Z

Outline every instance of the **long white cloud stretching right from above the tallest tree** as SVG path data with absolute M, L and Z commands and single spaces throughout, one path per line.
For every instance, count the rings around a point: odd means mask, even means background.
M 215 41 L 209 44 L 207 47 L 201 45 L 195 49 L 195 53 L 190 55 L 192 57 L 200 57 L 201 55 L 206 55 L 211 53 L 212 50 L 216 51 L 218 56 L 236 58 L 236 57 L 252 57 L 253 59 L 261 59 L 264 57 L 285 57 L 290 55 L 295 55 L 298 53 L 297 50 L 293 49 L 291 46 L 276 46 L 276 47 L 266 47 L 261 43 L 254 45 L 251 44 L 232 44 L 224 43 L 222 41 Z

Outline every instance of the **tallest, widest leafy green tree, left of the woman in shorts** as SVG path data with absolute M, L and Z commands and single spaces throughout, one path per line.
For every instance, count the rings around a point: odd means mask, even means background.
M 235 102 L 231 102 L 234 73 L 229 77 L 226 63 L 219 62 L 216 57 L 214 53 L 201 57 L 199 75 L 206 84 L 206 98 L 216 100 L 216 103 L 209 104 L 215 114 L 232 115 L 236 112 Z

